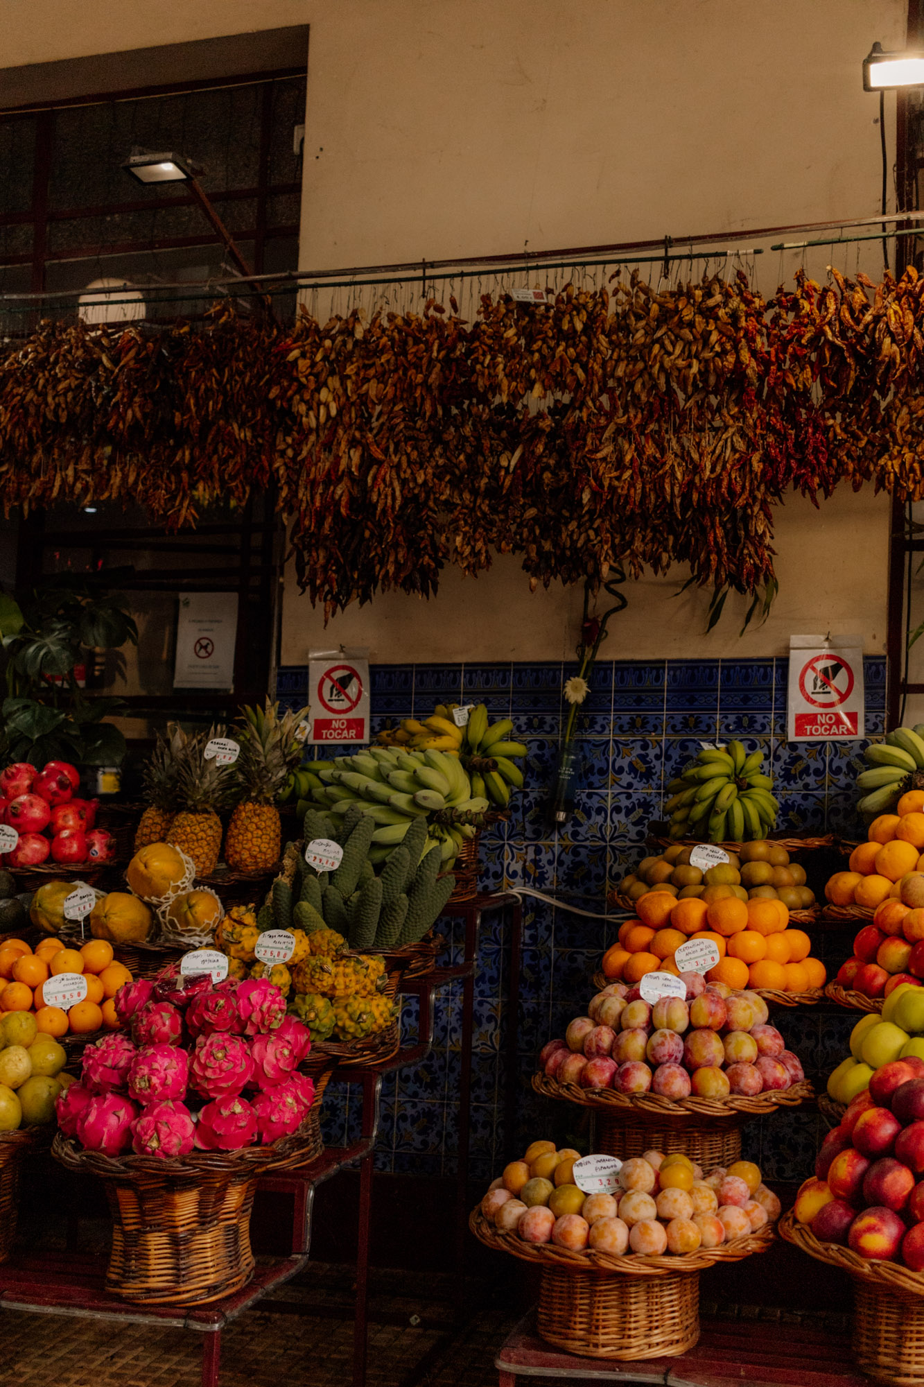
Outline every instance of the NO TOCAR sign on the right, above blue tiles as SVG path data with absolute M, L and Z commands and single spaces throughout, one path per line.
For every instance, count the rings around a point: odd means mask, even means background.
M 862 635 L 791 635 L 787 735 L 791 742 L 866 735 Z

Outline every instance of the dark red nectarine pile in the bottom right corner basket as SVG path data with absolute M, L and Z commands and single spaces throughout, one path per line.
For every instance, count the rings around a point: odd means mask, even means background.
M 821 1144 L 794 1214 L 823 1243 L 924 1270 L 924 1062 L 884 1064 Z

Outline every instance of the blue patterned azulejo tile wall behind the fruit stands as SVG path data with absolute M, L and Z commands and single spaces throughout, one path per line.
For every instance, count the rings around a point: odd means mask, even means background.
M 853 778 L 866 742 L 787 742 L 787 659 L 748 660 L 613 660 L 594 670 L 591 694 L 577 724 L 581 753 L 580 789 L 572 820 L 559 831 L 548 827 L 545 802 L 567 716 L 565 681 L 574 664 L 379 664 L 372 667 L 372 730 L 401 717 L 426 717 L 438 702 L 483 700 L 493 717 L 511 717 L 515 735 L 530 755 L 526 786 L 511 802 L 508 822 L 481 839 L 481 889 L 526 885 L 591 911 L 605 911 L 608 885 L 619 881 L 642 856 L 648 824 L 662 816 L 666 785 L 702 742 L 739 738 L 760 748 L 773 768 L 781 804 L 780 828 L 838 832 L 853 827 Z M 885 662 L 867 657 L 866 732 L 881 736 L 885 717 Z M 279 671 L 283 703 L 307 702 L 307 666 Z M 340 755 L 326 748 L 325 755 Z M 472 1175 L 498 1173 L 504 1151 L 504 1053 L 506 1028 L 516 1025 L 519 1054 L 517 1126 L 526 1139 L 549 1122 L 574 1121 L 570 1112 L 551 1115 L 548 1104 L 529 1087 L 536 1054 L 561 1035 L 584 1008 L 590 978 L 602 950 L 616 938 L 617 921 L 585 920 L 526 903 L 520 1004 L 506 1014 L 506 933 L 502 914 L 486 917 L 474 985 L 472 1076 Z M 444 928 L 445 927 L 445 928 Z M 456 933 L 459 924 L 456 922 Z M 441 927 L 450 935 L 450 922 Z M 454 953 L 461 940 L 452 939 Z M 416 1001 L 405 1001 L 404 1025 L 415 1032 Z M 787 1017 L 782 1029 L 794 1049 L 806 1053 L 806 1067 L 828 1064 L 820 1022 Z M 838 1032 L 839 1035 L 839 1032 Z M 837 1056 L 835 1042 L 834 1054 Z M 810 1053 L 809 1053 L 810 1051 Z M 455 1169 L 458 1075 L 461 1060 L 461 996 L 447 989 L 437 1004 L 437 1035 L 430 1057 L 419 1067 L 388 1075 L 383 1086 L 382 1132 L 376 1165 L 382 1171 L 448 1175 Z M 837 1061 L 835 1061 L 837 1062 Z M 567 1108 L 567 1104 L 556 1105 Z M 345 1140 L 357 1130 L 345 1086 L 325 1097 L 326 1135 Z M 813 1115 L 771 1119 L 773 1143 L 763 1142 L 766 1173 L 802 1178 L 814 1151 Z M 562 1133 L 567 1126 L 562 1128 Z M 755 1130 L 752 1143 L 760 1143 Z M 809 1148 L 812 1155 L 809 1154 Z

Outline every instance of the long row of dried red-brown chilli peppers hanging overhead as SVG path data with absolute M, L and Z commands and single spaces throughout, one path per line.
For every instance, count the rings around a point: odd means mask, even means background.
M 690 565 L 773 583 L 773 506 L 848 481 L 924 494 L 924 280 L 744 275 L 486 295 L 472 323 L 358 312 L 284 330 L 43 323 L 0 361 L 0 495 L 142 499 L 194 524 L 271 481 L 327 612 L 520 555 L 533 587 Z

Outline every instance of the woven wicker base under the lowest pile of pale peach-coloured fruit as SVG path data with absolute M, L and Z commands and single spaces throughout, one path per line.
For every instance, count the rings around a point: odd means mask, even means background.
M 542 1268 L 542 1338 L 581 1358 L 662 1358 L 699 1338 L 699 1273 L 620 1276 Z

